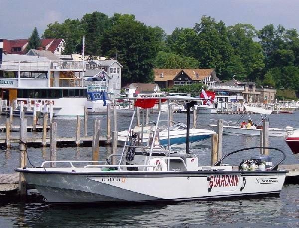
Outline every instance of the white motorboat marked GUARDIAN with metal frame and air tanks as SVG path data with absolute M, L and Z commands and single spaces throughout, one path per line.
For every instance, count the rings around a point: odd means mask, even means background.
M 190 122 L 192 102 L 188 103 L 187 123 Z M 129 129 L 134 116 L 135 112 Z M 275 165 L 266 156 L 243 160 L 239 170 L 221 165 L 227 156 L 246 150 L 241 149 L 229 153 L 213 166 L 199 166 L 197 156 L 189 153 L 189 143 L 186 143 L 186 153 L 172 153 L 169 138 L 168 150 L 157 146 L 157 132 L 157 127 L 149 132 L 151 139 L 145 145 L 125 145 L 118 164 L 107 161 L 97 161 L 100 164 L 95 164 L 96 161 L 45 161 L 41 167 L 24 167 L 15 171 L 22 173 L 27 183 L 34 185 L 50 203 L 177 202 L 278 196 L 282 190 L 287 171 L 277 169 L 286 156 L 279 149 L 284 158 Z M 189 128 L 187 142 L 188 136 Z M 116 162 L 115 159 L 113 161 Z M 74 166 L 75 163 L 87 162 L 90 164 Z M 53 163 L 69 164 L 70 167 L 47 167 L 47 164 Z

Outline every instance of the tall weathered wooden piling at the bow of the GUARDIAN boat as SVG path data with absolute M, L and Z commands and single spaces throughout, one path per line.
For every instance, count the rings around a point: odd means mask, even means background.
M 27 142 L 27 119 L 21 119 L 20 124 L 20 168 L 26 167 L 27 153 L 26 153 L 26 142 Z M 22 173 L 19 174 L 18 190 L 21 198 L 26 196 L 26 181 Z

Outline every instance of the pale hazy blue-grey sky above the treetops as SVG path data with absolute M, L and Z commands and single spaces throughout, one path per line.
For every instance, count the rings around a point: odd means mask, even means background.
M 299 0 L 0 0 L 0 38 L 26 39 L 34 27 L 40 35 L 47 24 L 81 19 L 99 11 L 134 14 L 167 34 L 176 27 L 193 28 L 203 15 L 226 26 L 252 24 L 260 30 L 267 24 L 299 31 Z

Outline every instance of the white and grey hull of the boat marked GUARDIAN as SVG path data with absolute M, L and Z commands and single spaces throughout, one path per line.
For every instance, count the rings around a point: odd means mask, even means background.
M 279 194 L 286 176 L 284 171 L 22 173 L 51 203 L 190 201 Z

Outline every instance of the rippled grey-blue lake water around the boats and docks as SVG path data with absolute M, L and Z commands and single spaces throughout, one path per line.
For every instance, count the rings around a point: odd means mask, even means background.
M 155 120 L 152 114 L 150 120 Z M 208 128 L 213 119 L 236 121 L 241 115 L 201 115 L 197 117 L 197 127 Z M 162 114 L 166 119 L 166 114 Z M 186 122 L 185 114 L 174 114 L 174 120 Z M 252 115 L 253 119 L 259 115 Z M 101 119 L 102 134 L 106 132 L 106 115 L 89 115 L 88 133 L 93 131 L 93 120 Z M 247 119 L 244 116 L 243 119 Z M 299 128 L 299 112 L 295 114 L 273 114 L 271 127 L 293 126 Z M 19 121 L 14 119 L 14 123 Z M 28 118 L 28 124 L 32 122 Z M 59 136 L 74 136 L 76 118 L 57 117 Z M 0 123 L 5 116 L 0 116 Z M 130 117 L 118 115 L 118 130 L 128 129 Z M 112 121 L 113 124 L 113 121 Z M 83 126 L 83 118 L 81 122 Z M 83 128 L 83 127 L 82 127 Z M 81 130 L 83 134 L 83 129 Z M 0 133 L 3 134 L 3 133 Z M 12 132 L 18 135 L 18 132 Z M 28 132 L 28 135 L 41 132 Z M 82 135 L 81 134 L 81 135 Z M 210 163 L 210 140 L 200 147 L 192 147 L 191 153 L 199 158 L 200 165 Z M 244 147 L 259 146 L 259 137 L 223 136 L 223 155 Z M 282 149 L 287 154 L 284 164 L 298 164 L 299 157 L 293 155 L 283 137 L 270 137 L 270 146 Z M 118 148 L 121 151 L 121 148 Z M 100 148 L 100 159 L 111 153 L 110 147 Z M 238 165 L 242 158 L 250 158 L 259 151 L 248 151 L 227 160 Z M 281 154 L 271 151 L 274 162 Z M 28 148 L 28 157 L 33 165 L 40 165 L 49 159 L 49 148 Z M 90 160 L 90 147 L 64 147 L 57 149 L 58 160 Z M 10 149 L 0 148 L 0 172 L 12 173 L 19 165 L 17 144 Z M 171 191 L 165 190 L 165 191 Z M 32 193 L 31 196 L 36 196 Z M 299 226 L 299 185 L 285 185 L 279 198 L 242 199 L 233 201 L 200 201 L 158 205 L 85 205 L 61 207 L 43 203 L 41 197 L 30 198 L 26 203 L 15 203 L 8 199 L 0 203 L 0 227 L 298 227 Z M 7 199 L 6 199 L 7 200 Z M 1 201 L 0 201 L 1 202 Z

